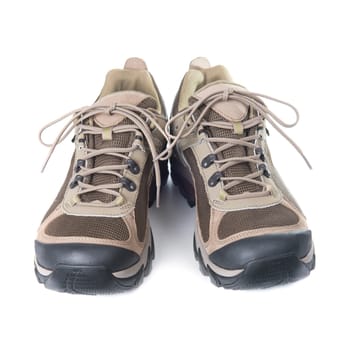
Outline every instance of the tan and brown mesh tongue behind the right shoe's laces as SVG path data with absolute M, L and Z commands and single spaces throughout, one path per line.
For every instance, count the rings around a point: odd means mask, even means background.
M 224 93 L 225 91 L 229 91 L 230 89 L 235 90 L 245 90 L 243 87 L 239 85 L 235 85 L 233 83 L 227 82 L 217 82 L 204 86 L 202 89 L 198 90 L 194 94 L 194 98 L 196 100 L 206 98 L 213 93 Z M 203 109 L 202 109 L 203 110 Z M 199 112 L 200 113 L 200 112 Z M 198 113 L 198 115 L 199 115 Z M 227 101 L 218 101 L 216 102 L 206 113 L 204 119 L 209 122 L 216 121 L 229 121 L 231 123 L 239 123 L 243 122 L 245 119 L 249 118 L 249 109 L 242 102 L 236 100 L 227 100 Z M 198 116 L 197 115 L 197 116 Z M 245 131 L 243 135 L 237 135 L 234 132 L 234 129 L 223 129 L 220 127 L 210 127 L 209 132 L 212 137 L 218 138 L 234 138 L 239 139 L 242 137 L 246 137 L 255 132 L 255 130 L 251 129 Z M 212 143 L 214 148 L 222 146 L 222 143 Z M 236 145 L 226 149 L 218 154 L 219 159 L 228 159 L 233 157 L 245 157 L 252 155 L 252 150 L 250 148 Z M 234 166 L 230 166 L 226 170 L 223 171 L 223 175 L 225 177 L 244 177 L 252 172 L 256 171 L 254 169 L 253 164 L 250 163 L 240 163 Z M 231 187 L 227 190 L 227 193 L 231 195 L 241 194 L 244 192 L 260 192 L 262 190 L 261 186 L 250 182 L 241 182 L 240 184 Z

